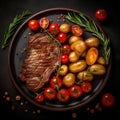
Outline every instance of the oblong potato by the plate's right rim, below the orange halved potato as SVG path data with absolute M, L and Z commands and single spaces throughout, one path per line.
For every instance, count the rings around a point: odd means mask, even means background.
M 106 73 L 106 67 L 101 64 L 93 64 L 89 70 L 93 75 L 104 75 Z

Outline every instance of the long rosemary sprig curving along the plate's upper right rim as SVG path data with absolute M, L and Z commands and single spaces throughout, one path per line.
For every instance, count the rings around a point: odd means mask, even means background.
M 104 50 L 103 56 L 105 58 L 106 64 L 108 64 L 111 53 L 110 39 L 107 38 L 105 34 L 97 27 L 95 22 L 84 16 L 82 13 L 78 14 L 75 12 L 68 12 L 68 15 L 66 15 L 66 19 L 80 25 L 84 28 L 85 31 L 91 32 L 92 35 L 100 39 L 100 43 Z

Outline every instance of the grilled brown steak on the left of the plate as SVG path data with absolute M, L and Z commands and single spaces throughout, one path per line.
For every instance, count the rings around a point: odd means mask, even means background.
M 37 33 L 28 41 L 28 55 L 20 73 L 21 81 L 32 91 L 39 91 L 59 64 L 59 46 L 46 33 Z

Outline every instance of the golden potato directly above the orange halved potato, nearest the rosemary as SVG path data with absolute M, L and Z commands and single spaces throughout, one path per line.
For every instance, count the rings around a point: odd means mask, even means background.
M 85 43 L 88 47 L 98 47 L 100 41 L 97 37 L 90 37 L 85 40 Z

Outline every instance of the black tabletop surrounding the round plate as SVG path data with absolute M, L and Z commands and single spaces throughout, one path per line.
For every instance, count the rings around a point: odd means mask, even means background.
M 21 106 L 15 101 L 15 96 L 19 95 L 13 86 L 8 75 L 8 48 L 0 49 L 0 117 L 12 119 L 26 120 L 47 120 L 47 119 L 115 119 L 120 114 L 120 31 L 119 31 L 119 7 L 116 0 L 1 0 L 0 1 L 0 44 L 3 38 L 6 27 L 10 24 L 16 14 L 23 10 L 30 10 L 33 14 L 48 8 L 72 8 L 82 11 L 92 17 L 98 8 L 105 8 L 108 12 L 107 21 L 104 23 L 98 22 L 111 39 L 112 48 L 112 69 L 107 85 L 101 93 L 90 104 L 83 108 L 66 111 L 66 112 L 51 112 L 40 109 L 40 114 L 34 113 L 38 108 L 31 104 Z M 4 92 L 8 91 L 10 102 L 7 102 L 3 96 Z M 115 105 L 112 108 L 102 107 L 102 111 L 90 113 L 86 110 L 87 107 L 93 108 L 97 102 L 100 102 L 103 93 L 110 92 L 115 96 Z M 22 98 L 24 101 L 24 98 Z M 15 106 L 15 110 L 11 110 L 11 106 Z M 28 112 L 24 110 L 28 109 Z M 74 113 L 77 117 L 72 117 Z M 5 114 L 5 115 L 3 115 Z M 0 118 L 1 119 L 1 118 Z

